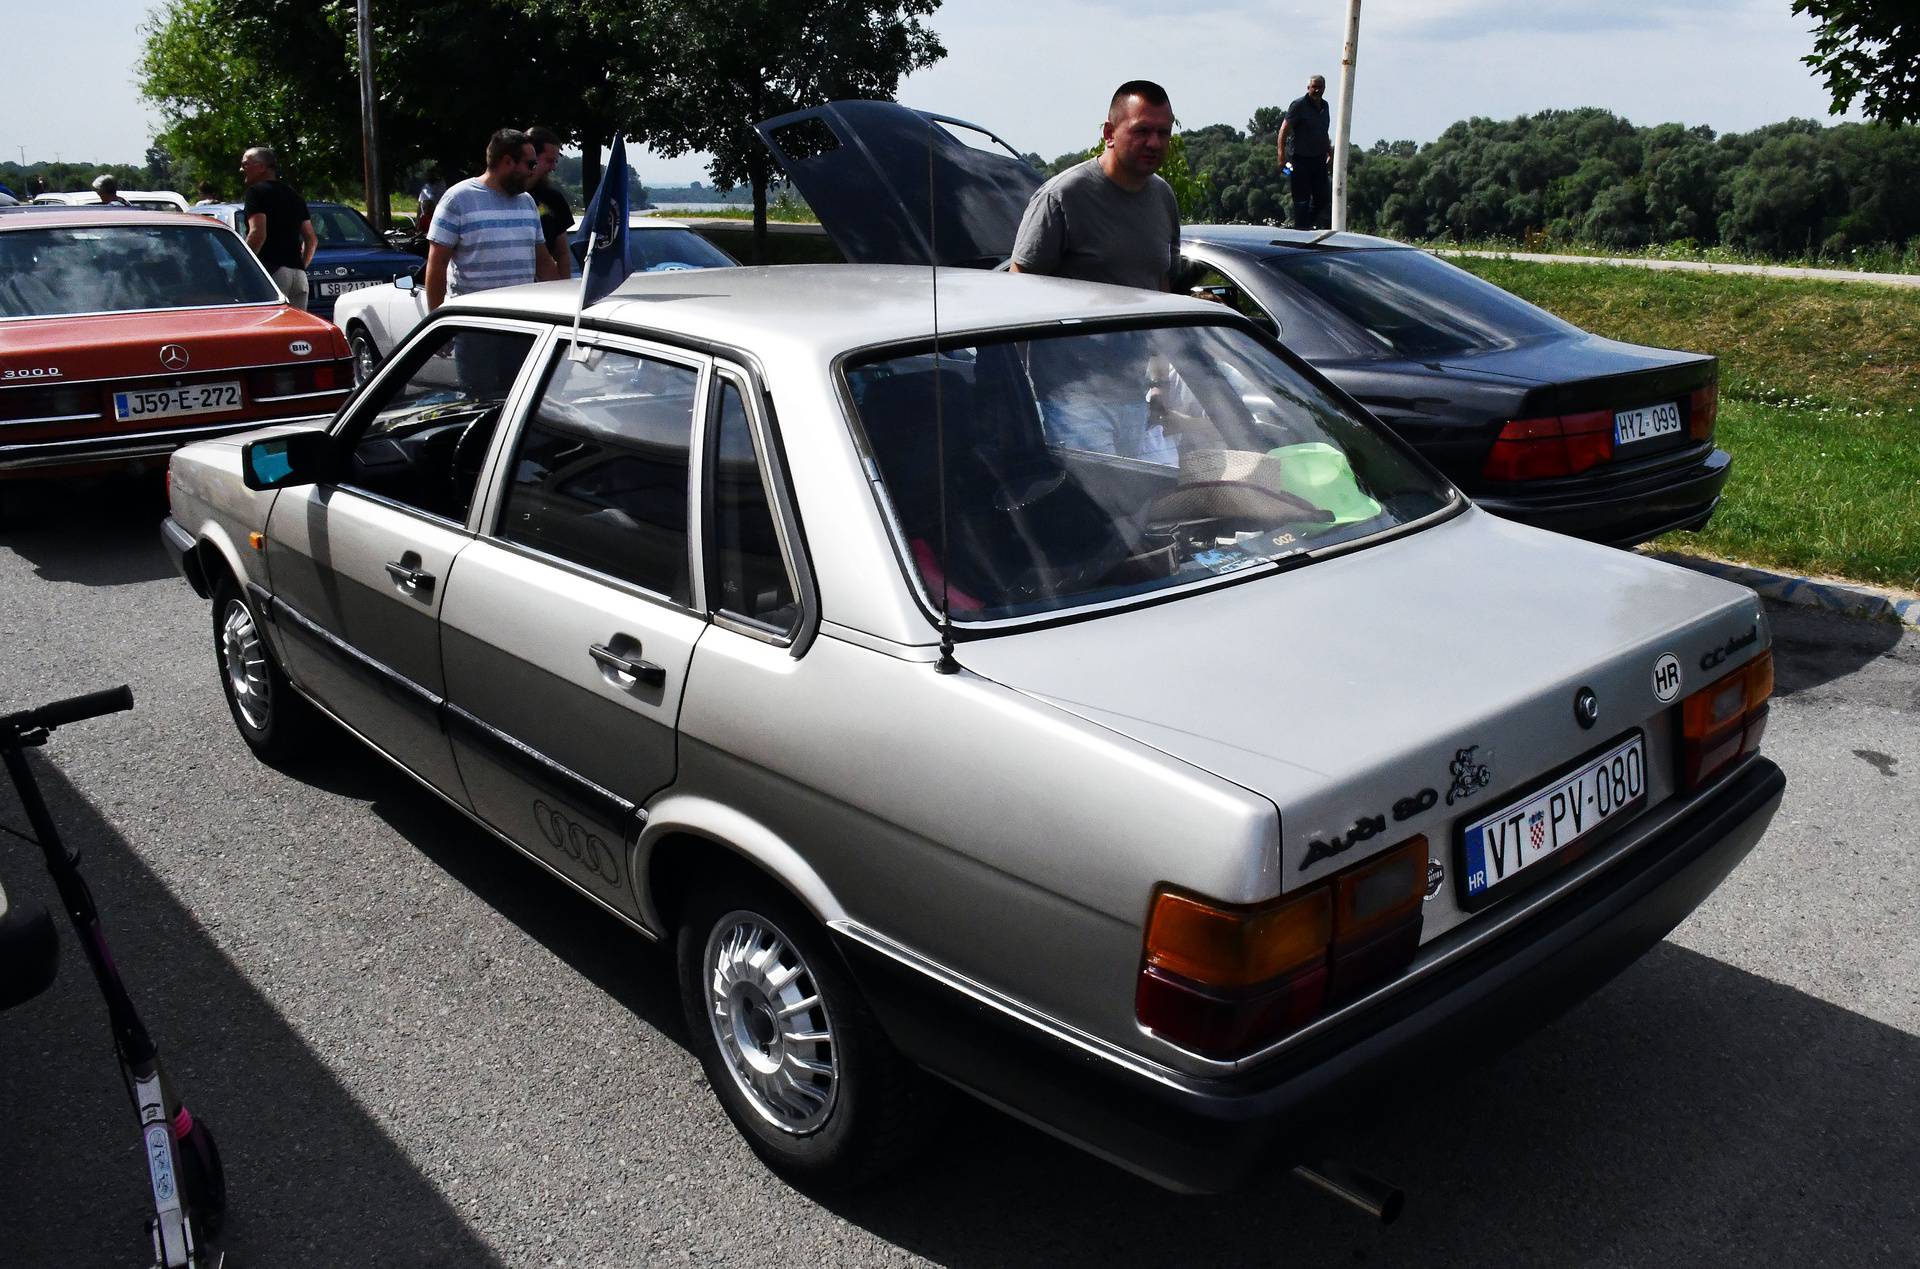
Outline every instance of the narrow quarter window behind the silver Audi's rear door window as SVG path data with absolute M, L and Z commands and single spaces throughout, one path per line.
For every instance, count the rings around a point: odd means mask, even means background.
M 722 380 L 712 442 L 712 607 L 778 634 L 801 609 L 780 551 L 739 386 Z

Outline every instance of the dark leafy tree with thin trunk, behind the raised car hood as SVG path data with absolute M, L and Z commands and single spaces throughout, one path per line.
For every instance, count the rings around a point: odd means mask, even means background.
M 670 31 L 672 50 L 655 77 L 626 81 L 624 115 L 664 157 L 712 154 L 708 171 L 722 190 L 753 186 L 753 250 L 764 259 L 774 156 L 753 125 L 837 98 L 891 98 L 902 75 L 947 56 L 920 21 L 937 8 L 939 0 L 647 0 L 647 25 Z

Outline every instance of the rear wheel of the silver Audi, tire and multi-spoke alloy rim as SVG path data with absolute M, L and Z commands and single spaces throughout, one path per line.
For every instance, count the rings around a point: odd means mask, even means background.
M 801 1186 L 851 1190 L 914 1152 L 925 1077 L 895 1052 L 826 931 L 785 893 L 758 881 L 703 889 L 680 923 L 678 962 L 693 1052 L 770 1169 Z M 785 1033 L 776 1008 L 799 1010 Z

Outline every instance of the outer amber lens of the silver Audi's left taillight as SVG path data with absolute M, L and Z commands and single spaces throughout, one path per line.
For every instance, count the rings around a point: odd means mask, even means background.
M 1252 987 L 1321 960 L 1331 941 L 1327 887 L 1254 908 L 1160 891 L 1146 922 L 1146 964 L 1206 987 Z

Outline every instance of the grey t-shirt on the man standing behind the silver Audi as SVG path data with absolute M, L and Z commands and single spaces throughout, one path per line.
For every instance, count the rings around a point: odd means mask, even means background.
M 1100 159 L 1075 163 L 1037 188 L 1014 238 L 1021 273 L 1146 290 L 1165 286 L 1179 251 L 1173 186 L 1148 177 L 1146 188 L 1123 190 L 1100 171 Z

